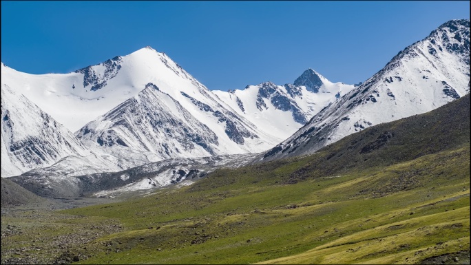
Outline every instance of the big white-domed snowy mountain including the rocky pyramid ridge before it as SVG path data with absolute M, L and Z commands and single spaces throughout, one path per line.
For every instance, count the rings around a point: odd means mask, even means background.
M 151 47 L 69 74 L 25 74 L 2 63 L 1 76 L 3 85 L 68 129 L 78 129 L 75 136 L 85 149 L 113 168 L 168 158 L 260 152 L 283 139 L 238 115 Z M 42 166 L 66 155 L 72 153 Z M 71 168 L 89 171 L 82 159 L 65 161 Z

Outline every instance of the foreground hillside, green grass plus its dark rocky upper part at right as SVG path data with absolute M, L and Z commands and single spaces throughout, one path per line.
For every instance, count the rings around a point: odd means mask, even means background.
M 68 249 L 85 264 L 419 263 L 470 249 L 469 138 L 466 96 L 313 156 L 54 213 L 67 217 L 56 232 L 87 236 L 98 220 L 123 228 Z

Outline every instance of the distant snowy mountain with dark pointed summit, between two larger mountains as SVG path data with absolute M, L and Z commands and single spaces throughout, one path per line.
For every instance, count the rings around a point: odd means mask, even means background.
M 296 79 L 294 85 L 266 82 L 228 92 L 213 90 L 213 93 L 238 115 L 257 125 L 264 133 L 277 137 L 280 142 L 328 103 L 351 89 L 353 85 L 332 83 L 310 68 Z

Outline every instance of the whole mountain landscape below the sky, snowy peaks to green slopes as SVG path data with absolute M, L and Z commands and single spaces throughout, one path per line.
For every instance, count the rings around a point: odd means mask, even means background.
M 470 263 L 468 19 L 357 85 L 1 76 L 1 264 Z

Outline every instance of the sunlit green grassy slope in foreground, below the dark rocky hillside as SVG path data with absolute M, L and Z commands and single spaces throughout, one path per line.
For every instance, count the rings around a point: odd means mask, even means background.
M 325 256 L 310 251 L 311 256 L 288 260 L 339 264 L 382 258 L 384 263 L 406 263 L 408 257 L 417 262 L 469 249 L 469 152 L 463 147 L 378 171 L 291 185 L 267 185 L 273 179 L 252 183 L 248 176 L 211 191 L 164 189 L 109 208 L 67 212 L 116 218 L 126 228 L 87 246 L 101 251 L 84 261 L 91 264 L 253 263 L 311 249 L 324 249 L 320 253 Z M 412 189 L 379 198 L 361 192 L 382 189 L 391 178 L 423 168 L 430 172 L 417 176 Z M 384 245 L 373 244 L 383 240 Z M 433 246 L 441 248 L 423 251 Z M 350 248 L 357 251 L 348 252 Z M 420 250 L 423 255 L 414 255 Z

